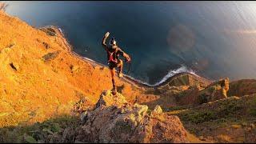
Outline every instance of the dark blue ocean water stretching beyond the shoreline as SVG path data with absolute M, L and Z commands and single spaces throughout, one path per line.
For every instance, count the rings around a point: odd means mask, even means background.
M 184 71 L 256 78 L 256 2 L 7 3 L 8 14 L 60 27 L 76 53 L 104 65 L 109 31 L 132 58 L 128 75 L 152 86 Z

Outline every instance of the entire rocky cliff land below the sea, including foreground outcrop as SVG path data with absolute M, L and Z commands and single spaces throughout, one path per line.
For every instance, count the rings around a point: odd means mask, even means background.
M 125 77 L 114 96 L 107 67 L 74 54 L 56 27 L 2 11 L 0 63 L 0 142 L 256 142 L 254 79 Z

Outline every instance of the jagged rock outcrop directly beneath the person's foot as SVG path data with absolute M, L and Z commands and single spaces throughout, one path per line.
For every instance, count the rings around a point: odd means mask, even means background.
M 177 116 L 163 114 L 160 106 L 150 113 L 146 105 L 133 105 L 110 91 L 101 94 L 84 121 L 76 130 L 77 142 L 187 142 Z

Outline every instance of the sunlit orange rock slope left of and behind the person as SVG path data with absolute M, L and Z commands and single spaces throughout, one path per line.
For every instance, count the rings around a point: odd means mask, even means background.
M 0 12 L 0 127 L 70 113 L 80 98 L 96 103 L 110 72 L 73 54 L 57 29 L 38 30 Z M 118 78 L 117 78 L 118 79 Z M 118 80 L 133 100 L 139 90 Z

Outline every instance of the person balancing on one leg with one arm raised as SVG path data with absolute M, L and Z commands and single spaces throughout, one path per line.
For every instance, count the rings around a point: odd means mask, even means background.
M 124 51 L 122 51 L 118 46 L 117 42 L 114 40 L 114 38 L 111 38 L 110 44 L 106 45 L 106 38 L 108 38 L 110 35 L 110 32 L 106 32 L 104 37 L 102 38 L 102 46 L 106 50 L 107 53 L 107 62 L 108 66 L 110 68 L 110 73 L 111 73 L 111 78 L 112 78 L 112 84 L 113 84 L 113 89 L 112 93 L 116 94 L 117 93 L 117 88 L 115 86 L 115 81 L 114 81 L 114 75 L 115 75 L 115 68 L 118 68 L 118 77 L 122 78 L 122 60 L 119 59 L 119 55 L 122 55 L 124 58 L 126 58 L 127 62 L 130 62 L 130 56 L 126 54 Z

